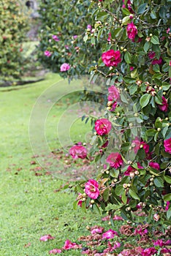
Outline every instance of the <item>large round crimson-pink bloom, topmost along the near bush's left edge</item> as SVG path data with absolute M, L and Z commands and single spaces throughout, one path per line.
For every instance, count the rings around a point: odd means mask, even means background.
M 107 50 L 102 53 L 102 61 L 107 67 L 117 67 L 121 62 L 121 53 L 119 50 Z

